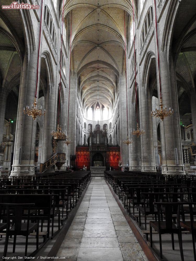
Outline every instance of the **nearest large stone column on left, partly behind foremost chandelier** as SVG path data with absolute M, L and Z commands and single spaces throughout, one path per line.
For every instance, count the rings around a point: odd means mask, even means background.
M 34 174 L 34 149 L 36 135 L 36 120 L 27 116 L 23 108 L 31 108 L 34 101 L 36 85 L 37 51 L 34 51 L 28 60 L 24 55 L 22 64 L 18 114 L 16 122 L 16 135 L 14 145 L 14 159 L 12 176 Z

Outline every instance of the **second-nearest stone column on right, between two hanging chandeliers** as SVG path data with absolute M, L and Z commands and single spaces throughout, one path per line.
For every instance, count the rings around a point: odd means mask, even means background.
M 139 88 L 139 108 L 140 108 L 140 129 L 145 133 L 140 136 L 141 141 L 141 169 L 142 171 L 155 171 L 152 117 L 151 117 L 151 98 L 149 88 L 145 86 Z

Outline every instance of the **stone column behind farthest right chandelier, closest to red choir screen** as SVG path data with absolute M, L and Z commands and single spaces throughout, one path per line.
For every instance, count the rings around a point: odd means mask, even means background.
M 120 104 L 120 155 L 122 166 L 128 164 L 129 148 L 123 144 L 123 140 L 127 139 L 127 119 L 126 119 L 126 78 L 125 75 L 119 76 L 119 104 Z M 129 134 L 130 138 L 130 134 Z

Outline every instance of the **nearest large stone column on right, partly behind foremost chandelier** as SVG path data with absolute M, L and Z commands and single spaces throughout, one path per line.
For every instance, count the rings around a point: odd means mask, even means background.
M 164 107 L 167 106 L 167 110 L 169 110 L 169 107 L 174 110 L 172 116 L 168 116 L 163 121 L 160 121 L 163 155 L 162 173 L 185 174 L 182 157 L 175 66 L 172 58 L 170 65 L 168 65 L 167 57 L 164 52 L 160 52 L 160 61 L 163 104 Z

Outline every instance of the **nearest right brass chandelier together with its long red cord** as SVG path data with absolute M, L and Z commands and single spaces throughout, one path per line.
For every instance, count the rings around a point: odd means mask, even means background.
M 171 116 L 172 114 L 174 114 L 174 110 L 171 108 L 169 108 L 169 111 L 167 111 L 167 107 L 165 106 L 165 108 L 163 107 L 163 100 L 162 100 L 162 90 L 161 90 L 161 74 L 160 74 L 160 59 L 159 59 L 159 41 L 158 41 L 158 30 L 157 30 L 157 12 L 156 12 L 156 1 L 154 0 L 154 4 L 155 4 L 155 25 L 156 25 L 156 38 L 157 38 L 157 62 L 158 62 L 158 69 L 159 69 L 159 87 L 160 87 L 160 104 L 159 104 L 159 108 L 155 111 L 151 111 L 151 116 L 152 117 L 159 117 L 162 121 L 164 120 L 164 118 L 166 118 L 167 116 Z

